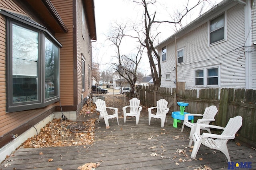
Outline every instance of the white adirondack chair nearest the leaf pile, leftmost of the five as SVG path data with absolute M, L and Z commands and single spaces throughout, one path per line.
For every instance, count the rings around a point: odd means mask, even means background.
M 106 129 L 109 129 L 109 124 L 108 124 L 108 119 L 112 119 L 115 118 L 117 119 L 117 124 L 118 123 L 118 108 L 114 108 L 114 107 L 106 107 L 106 102 L 104 100 L 98 99 L 95 102 L 96 104 L 96 111 L 100 112 L 100 116 L 98 119 L 98 123 L 100 122 L 100 118 L 103 118 L 106 124 Z M 114 114 L 112 115 L 108 115 L 108 112 L 106 109 L 112 109 L 114 110 Z

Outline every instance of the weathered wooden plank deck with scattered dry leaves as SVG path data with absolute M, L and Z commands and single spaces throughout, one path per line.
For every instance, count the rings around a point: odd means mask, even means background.
M 164 128 L 161 128 L 160 119 L 152 119 L 148 125 L 147 117 L 140 118 L 139 125 L 135 118 L 128 118 L 126 124 L 119 119 L 120 125 L 116 119 L 109 122 L 110 129 L 105 129 L 103 120 L 96 124 L 99 128 L 93 145 L 18 149 L 0 169 L 76 170 L 90 162 L 100 162 L 96 170 L 194 170 L 203 169 L 204 165 L 212 170 L 228 169 L 226 157 L 218 150 L 201 146 L 197 160 L 190 158 L 192 149 L 187 147 L 190 129 L 185 127 L 180 133 L 181 124 L 174 128 L 170 116 Z M 256 169 L 256 150 L 237 146 L 234 141 L 228 142 L 228 149 L 231 161 L 252 162 L 252 168 L 244 169 Z M 48 162 L 49 159 L 53 159 L 52 162 Z M 4 167 L 6 163 L 11 165 Z

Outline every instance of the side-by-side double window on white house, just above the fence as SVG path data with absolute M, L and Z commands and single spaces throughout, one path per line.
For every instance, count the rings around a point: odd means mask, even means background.
M 194 72 L 195 86 L 219 86 L 219 66 L 196 69 Z

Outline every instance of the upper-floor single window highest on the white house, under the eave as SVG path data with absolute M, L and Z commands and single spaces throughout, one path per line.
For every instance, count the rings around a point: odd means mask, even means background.
M 225 40 L 225 17 L 224 13 L 209 21 L 210 44 Z

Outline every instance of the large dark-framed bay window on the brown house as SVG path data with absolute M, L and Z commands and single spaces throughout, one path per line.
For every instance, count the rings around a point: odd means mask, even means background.
M 7 24 L 7 112 L 36 109 L 59 101 L 62 45 L 30 18 L 4 10 L 0 13 L 6 16 Z

